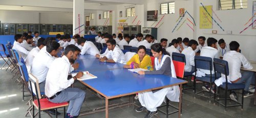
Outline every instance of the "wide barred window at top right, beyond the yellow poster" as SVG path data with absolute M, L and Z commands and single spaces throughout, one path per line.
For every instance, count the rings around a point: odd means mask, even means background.
M 247 0 L 219 0 L 219 10 L 245 8 L 247 8 Z

